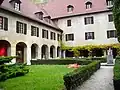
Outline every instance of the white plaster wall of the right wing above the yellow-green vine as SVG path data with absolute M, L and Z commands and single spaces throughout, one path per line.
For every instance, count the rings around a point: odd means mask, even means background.
M 77 46 L 118 43 L 117 38 L 107 38 L 107 30 L 115 30 L 114 23 L 108 22 L 108 14 L 111 14 L 111 12 L 58 19 L 58 26 L 64 30 L 64 36 L 65 34 L 74 33 L 74 41 L 64 41 L 65 44 Z M 94 24 L 84 24 L 84 17 L 88 16 L 94 17 Z M 71 19 L 72 26 L 67 27 L 67 20 L 69 19 Z M 85 40 L 85 32 L 94 32 L 95 39 Z

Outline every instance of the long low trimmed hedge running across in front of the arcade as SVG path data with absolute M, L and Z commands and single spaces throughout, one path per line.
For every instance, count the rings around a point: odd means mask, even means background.
M 31 60 L 32 65 L 39 65 L 39 64 L 57 64 L 57 65 L 66 65 L 66 64 L 73 64 L 77 63 L 80 65 L 87 65 L 91 63 L 90 60 Z

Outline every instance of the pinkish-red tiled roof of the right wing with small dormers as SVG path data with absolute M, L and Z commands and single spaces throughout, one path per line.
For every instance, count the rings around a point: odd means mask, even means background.
M 89 10 L 86 9 L 85 5 L 87 1 L 92 2 L 92 8 Z M 74 7 L 72 13 L 67 12 L 68 5 L 72 5 Z M 53 0 L 48 2 L 44 6 L 44 9 L 52 18 L 108 10 L 106 0 Z

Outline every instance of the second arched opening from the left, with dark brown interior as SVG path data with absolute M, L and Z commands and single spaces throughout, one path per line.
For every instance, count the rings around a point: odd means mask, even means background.
M 27 45 L 24 42 L 19 42 L 16 44 L 16 62 L 17 63 L 25 63 L 27 59 Z

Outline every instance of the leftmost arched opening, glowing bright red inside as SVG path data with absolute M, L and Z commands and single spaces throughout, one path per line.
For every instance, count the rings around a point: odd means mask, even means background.
M 6 40 L 0 40 L 0 56 L 10 56 L 11 45 Z

